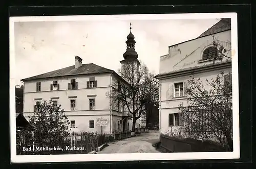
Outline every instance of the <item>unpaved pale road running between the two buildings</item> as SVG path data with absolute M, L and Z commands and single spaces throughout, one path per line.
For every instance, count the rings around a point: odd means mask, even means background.
M 148 133 L 141 133 L 140 136 L 125 138 L 123 140 L 108 143 L 97 154 L 109 153 L 159 153 L 152 144 L 159 141 L 159 131 L 149 131 Z

